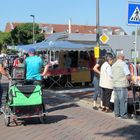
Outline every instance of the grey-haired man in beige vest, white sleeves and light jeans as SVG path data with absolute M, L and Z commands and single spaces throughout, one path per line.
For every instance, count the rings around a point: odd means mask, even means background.
M 127 96 L 130 71 L 124 61 L 124 55 L 118 54 L 117 61 L 112 65 L 113 88 L 114 88 L 114 113 L 116 117 L 127 118 Z

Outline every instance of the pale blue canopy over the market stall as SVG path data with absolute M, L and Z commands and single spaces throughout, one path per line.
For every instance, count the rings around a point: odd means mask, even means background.
M 96 44 L 87 44 L 71 41 L 42 41 L 36 44 L 16 46 L 19 51 L 28 52 L 29 48 L 35 48 L 37 51 L 89 51 L 93 50 Z

